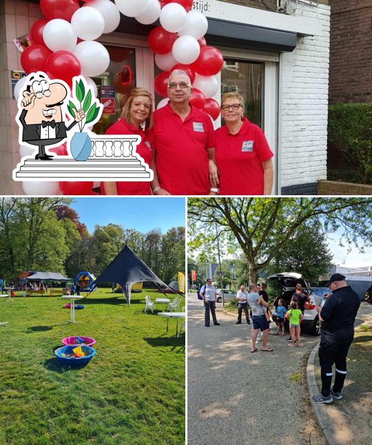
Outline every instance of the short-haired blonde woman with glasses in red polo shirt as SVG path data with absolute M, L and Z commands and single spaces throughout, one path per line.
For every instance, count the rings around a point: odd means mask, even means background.
M 273 152 L 260 127 L 244 117 L 244 99 L 236 92 L 221 98 L 225 125 L 216 135 L 220 195 L 271 195 Z

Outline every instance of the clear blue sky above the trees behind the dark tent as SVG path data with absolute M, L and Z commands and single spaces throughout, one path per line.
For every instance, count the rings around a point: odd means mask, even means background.
M 142 233 L 154 228 L 165 233 L 169 228 L 185 226 L 184 198 L 74 198 L 70 207 L 78 213 L 79 221 L 87 226 L 89 233 L 94 232 L 97 224 L 110 223 Z

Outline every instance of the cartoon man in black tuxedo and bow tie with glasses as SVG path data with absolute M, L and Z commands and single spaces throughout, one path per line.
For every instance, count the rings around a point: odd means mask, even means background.
M 70 94 L 70 93 L 69 93 Z M 50 81 L 43 72 L 30 75 L 19 103 L 19 126 L 22 141 L 39 147 L 35 159 L 51 160 L 52 155 L 45 152 L 45 146 L 56 146 L 67 137 L 67 132 L 85 118 L 84 110 L 75 110 L 75 119 L 66 127 L 61 109 L 68 95 L 67 85 L 56 79 Z

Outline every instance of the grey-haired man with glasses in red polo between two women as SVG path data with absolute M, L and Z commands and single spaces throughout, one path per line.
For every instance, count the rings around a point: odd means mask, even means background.
M 171 195 L 217 194 L 211 118 L 189 105 L 192 86 L 184 71 L 172 72 L 167 92 L 169 103 L 154 112 L 158 184 L 154 177 L 153 190 L 161 187 Z

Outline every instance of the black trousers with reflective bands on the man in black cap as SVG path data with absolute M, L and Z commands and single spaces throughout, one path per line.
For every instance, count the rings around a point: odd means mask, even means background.
M 340 393 L 344 387 L 344 381 L 347 376 L 347 353 L 350 345 L 351 342 L 320 342 L 319 363 L 322 375 L 322 395 L 324 395 L 324 397 L 327 397 L 331 392 L 333 364 L 335 364 L 335 382 L 333 384 L 333 391 L 335 393 Z

